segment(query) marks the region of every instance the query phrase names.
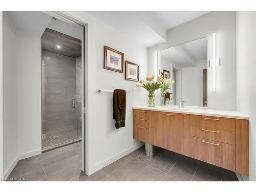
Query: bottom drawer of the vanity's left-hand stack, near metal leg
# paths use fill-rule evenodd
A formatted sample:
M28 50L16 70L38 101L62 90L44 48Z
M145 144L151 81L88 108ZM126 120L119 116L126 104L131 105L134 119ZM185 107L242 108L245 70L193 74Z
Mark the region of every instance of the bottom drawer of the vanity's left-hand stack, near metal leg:
M154 128L134 124L133 137L145 143L154 144Z

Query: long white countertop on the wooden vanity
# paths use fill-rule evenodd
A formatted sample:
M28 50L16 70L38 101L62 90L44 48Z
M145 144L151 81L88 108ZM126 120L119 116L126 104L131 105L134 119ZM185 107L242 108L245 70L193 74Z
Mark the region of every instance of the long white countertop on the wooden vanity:
M171 108L171 109L169 109ZM133 109L140 110L151 110L151 111L162 111L162 112L173 112L173 113L183 113L183 114L191 114L191 115L207 115L214 117L226 117L233 119L249 119L248 115L245 115L238 111L226 111L226 110L210 110L210 109L200 109L200 108L188 108L184 107L184 110L175 107L166 107L166 106L136 106Z

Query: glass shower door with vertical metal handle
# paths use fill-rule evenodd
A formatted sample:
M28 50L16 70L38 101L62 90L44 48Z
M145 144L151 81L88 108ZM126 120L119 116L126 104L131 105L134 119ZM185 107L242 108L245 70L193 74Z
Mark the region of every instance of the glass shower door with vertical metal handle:
M81 139L79 59L42 51L42 151Z

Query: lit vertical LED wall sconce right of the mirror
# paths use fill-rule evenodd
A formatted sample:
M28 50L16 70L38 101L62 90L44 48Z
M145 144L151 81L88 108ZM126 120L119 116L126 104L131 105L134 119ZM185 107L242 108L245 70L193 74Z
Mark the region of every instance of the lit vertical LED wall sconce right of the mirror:
M220 66L220 58L216 59L216 37L212 34L212 59L209 60L209 67L212 67L212 89L216 92L216 67Z

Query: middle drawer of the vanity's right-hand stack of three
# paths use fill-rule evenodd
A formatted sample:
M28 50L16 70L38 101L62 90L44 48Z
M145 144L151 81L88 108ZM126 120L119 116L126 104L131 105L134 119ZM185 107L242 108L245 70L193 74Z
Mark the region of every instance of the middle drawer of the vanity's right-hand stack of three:
M212 129L208 127L201 126L191 126L190 135L195 137L200 137L203 139L209 139L213 141L219 141L228 144L235 144L235 132Z

